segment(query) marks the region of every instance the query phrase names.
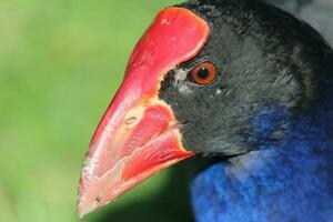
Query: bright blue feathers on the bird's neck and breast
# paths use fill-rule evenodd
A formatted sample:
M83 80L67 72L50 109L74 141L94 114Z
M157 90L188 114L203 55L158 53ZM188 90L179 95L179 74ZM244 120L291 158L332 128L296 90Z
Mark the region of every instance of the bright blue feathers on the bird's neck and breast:
M198 222L333 221L333 105L289 118L283 110L263 109L252 118L256 151L194 179ZM289 132L280 141L268 140L276 128Z

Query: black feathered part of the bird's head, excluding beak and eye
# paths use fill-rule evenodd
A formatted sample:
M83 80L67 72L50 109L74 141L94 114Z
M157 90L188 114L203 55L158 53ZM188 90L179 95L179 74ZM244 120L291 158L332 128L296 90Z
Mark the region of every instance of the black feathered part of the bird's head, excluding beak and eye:
M206 46L171 71L160 90L183 123L185 149L248 152L251 142L259 142L251 117L264 108L296 115L323 99L332 82L332 50L309 24L254 0L191 0L179 7L211 27ZM205 61L219 70L212 83L180 78ZM287 120L279 121L283 123L276 123L268 140L283 138Z

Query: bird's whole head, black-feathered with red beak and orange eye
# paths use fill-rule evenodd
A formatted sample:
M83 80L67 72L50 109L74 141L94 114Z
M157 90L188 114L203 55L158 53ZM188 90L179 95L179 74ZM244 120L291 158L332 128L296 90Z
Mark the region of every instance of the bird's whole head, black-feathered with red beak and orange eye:
M195 154L239 155L283 138L287 117L319 92L313 68L299 63L320 63L302 52L322 46L305 47L317 34L291 33L300 26L255 1L192 0L161 11L92 138L79 214Z

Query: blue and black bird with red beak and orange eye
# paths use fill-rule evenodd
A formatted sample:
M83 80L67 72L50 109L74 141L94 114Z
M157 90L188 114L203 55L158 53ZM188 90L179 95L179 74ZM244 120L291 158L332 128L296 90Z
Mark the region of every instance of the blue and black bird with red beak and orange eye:
M333 221L333 50L275 6L189 0L157 16L91 140L80 216L199 157L198 222Z

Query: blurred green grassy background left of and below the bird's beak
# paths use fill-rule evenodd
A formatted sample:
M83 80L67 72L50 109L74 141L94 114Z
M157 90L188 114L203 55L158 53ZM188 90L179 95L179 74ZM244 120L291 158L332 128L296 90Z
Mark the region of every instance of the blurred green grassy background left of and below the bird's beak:
M1 222L79 221L79 173L95 125L140 36L179 2L0 0ZM83 221L191 221L180 171Z

